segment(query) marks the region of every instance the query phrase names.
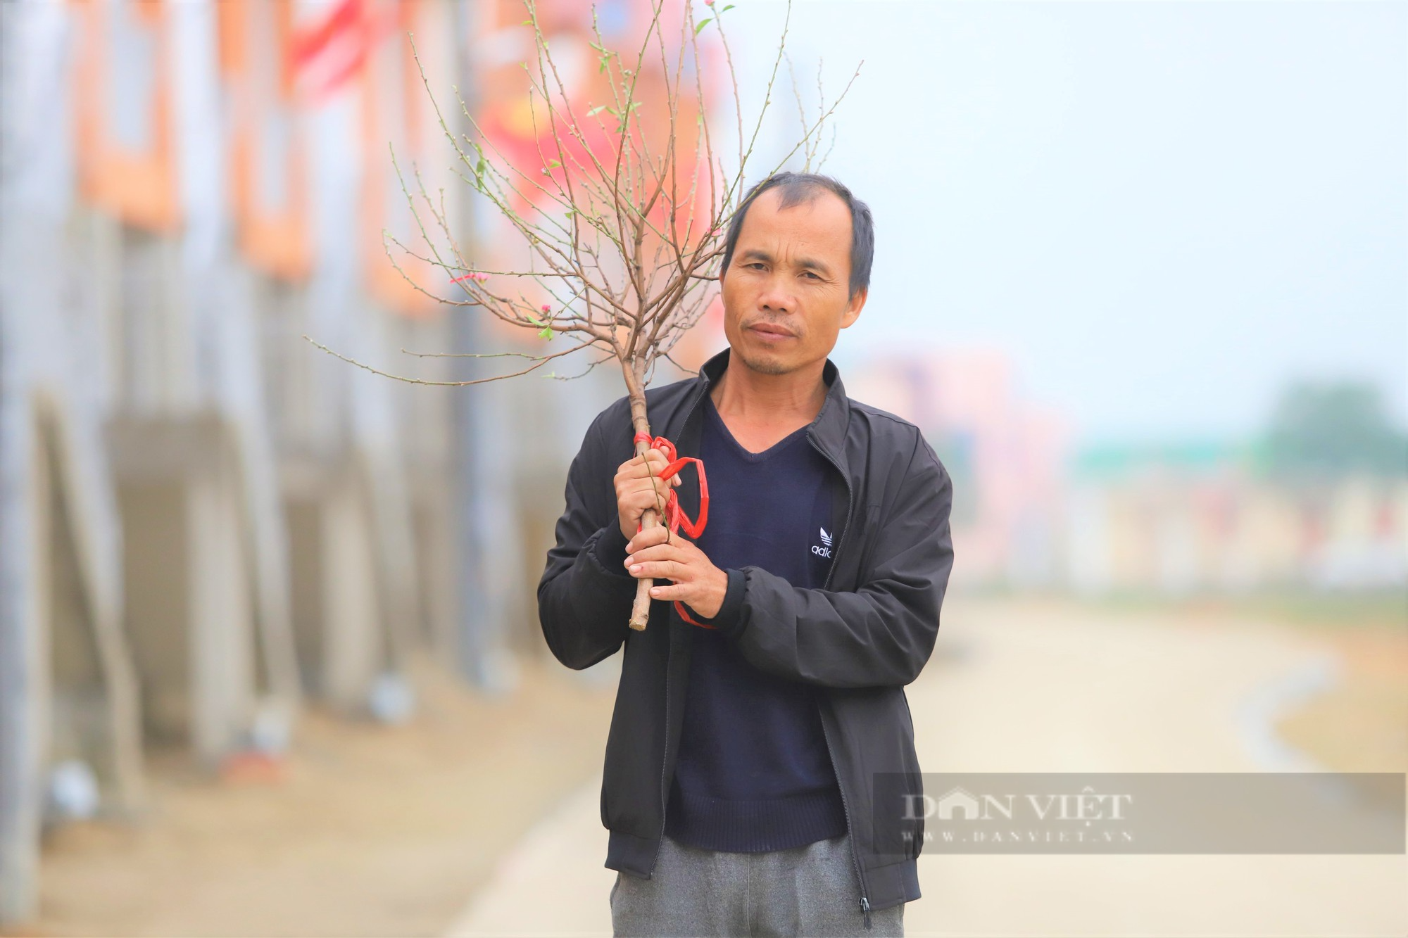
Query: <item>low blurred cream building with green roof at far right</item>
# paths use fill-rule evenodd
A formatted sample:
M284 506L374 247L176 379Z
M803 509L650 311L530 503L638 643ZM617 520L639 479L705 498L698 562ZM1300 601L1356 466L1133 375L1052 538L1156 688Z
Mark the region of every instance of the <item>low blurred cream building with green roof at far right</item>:
M1073 465L1067 538L1083 593L1402 587L1408 479L1294 486L1252 445L1091 446Z

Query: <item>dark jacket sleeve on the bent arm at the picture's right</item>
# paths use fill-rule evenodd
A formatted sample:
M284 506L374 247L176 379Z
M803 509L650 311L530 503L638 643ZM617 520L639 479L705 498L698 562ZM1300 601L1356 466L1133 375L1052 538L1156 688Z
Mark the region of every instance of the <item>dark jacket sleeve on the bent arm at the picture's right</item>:
M750 663L828 687L904 686L919 676L939 631L953 568L953 483L922 435L897 497L876 518L876 542L855 592L804 589L758 566L728 570L711 620ZM862 520L863 521L863 520ZM856 537L853 534L852 537Z

